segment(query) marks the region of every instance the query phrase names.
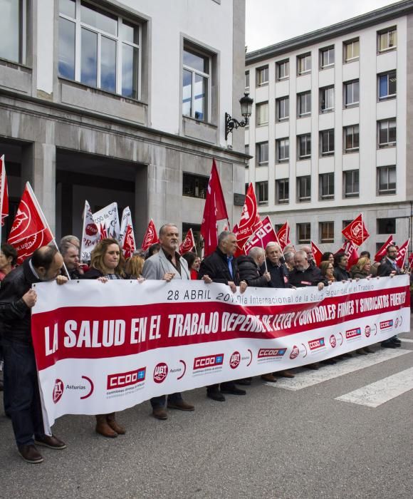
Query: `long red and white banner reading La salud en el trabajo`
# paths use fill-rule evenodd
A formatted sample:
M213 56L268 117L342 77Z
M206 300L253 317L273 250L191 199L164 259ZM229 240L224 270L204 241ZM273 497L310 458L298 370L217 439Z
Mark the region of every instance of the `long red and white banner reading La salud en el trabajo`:
M405 275L322 291L204 282L35 285L33 346L46 430L153 396L312 364L410 330Z

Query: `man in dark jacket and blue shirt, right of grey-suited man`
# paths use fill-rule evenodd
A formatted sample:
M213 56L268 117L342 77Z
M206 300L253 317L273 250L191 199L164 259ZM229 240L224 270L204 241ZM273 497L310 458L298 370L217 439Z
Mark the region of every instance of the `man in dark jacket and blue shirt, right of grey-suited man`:
M248 284L239 279L239 269L236 259L234 259L236 247L236 235L234 232L226 230L221 232L216 250L201 262L198 279L202 279L206 284L211 284L211 282L227 284L233 293L236 292L236 287L239 285L239 289L243 293ZM237 388L234 381L221 383L221 391L219 391L219 384L206 387L206 396L212 398L212 400L224 402L225 397L222 393L245 395L246 391Z

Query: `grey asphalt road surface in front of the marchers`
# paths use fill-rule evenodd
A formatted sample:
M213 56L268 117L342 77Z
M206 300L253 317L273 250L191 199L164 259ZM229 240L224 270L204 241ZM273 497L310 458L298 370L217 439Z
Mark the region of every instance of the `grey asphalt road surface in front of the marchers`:
M402 337L413 340L412 331ZM113 440L94 433L90 416L64 416L53 431L68 447L41 448L39 465L19 457L0 408L0 498L411 499L413 390L375 408L336 400L411 371L413 341L399 350L409 352L370 366L378 352L357 356L362 369L295 391L258 378L225 403L189 391L194 413L169 411L167 421L142 403L118 415L127 434ZM304 381L315 375L297 371Z

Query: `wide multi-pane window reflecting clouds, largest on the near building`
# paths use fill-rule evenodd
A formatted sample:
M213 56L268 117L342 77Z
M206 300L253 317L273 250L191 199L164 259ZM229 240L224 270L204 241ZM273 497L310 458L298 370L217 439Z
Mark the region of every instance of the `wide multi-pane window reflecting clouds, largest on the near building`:
M80 0L59 6L59 76L139 98L140 25Z

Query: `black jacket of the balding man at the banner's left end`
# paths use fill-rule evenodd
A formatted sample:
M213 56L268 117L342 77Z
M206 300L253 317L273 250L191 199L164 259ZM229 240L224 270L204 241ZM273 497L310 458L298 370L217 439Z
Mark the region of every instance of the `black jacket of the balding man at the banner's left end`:
M1 282L0 321L4 339L31 344L31 309L23 302L31 285L41 282L33 274L25 260L20 267L12 270Z

